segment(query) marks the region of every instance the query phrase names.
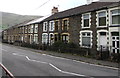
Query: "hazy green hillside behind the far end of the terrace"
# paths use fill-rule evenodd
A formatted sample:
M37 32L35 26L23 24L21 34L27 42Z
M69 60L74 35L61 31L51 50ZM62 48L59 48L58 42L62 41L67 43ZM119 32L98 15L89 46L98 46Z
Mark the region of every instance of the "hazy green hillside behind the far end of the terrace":
M13 13L0 12L0 29L6 29L26 20L32 20L42 16L18 15Z

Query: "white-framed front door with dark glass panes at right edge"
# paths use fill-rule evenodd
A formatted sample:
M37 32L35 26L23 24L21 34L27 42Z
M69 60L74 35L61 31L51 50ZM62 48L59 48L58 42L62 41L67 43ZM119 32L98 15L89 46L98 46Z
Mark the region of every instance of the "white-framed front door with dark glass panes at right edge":
M119 34L119 33L118 33ZM120 41L119 41L119 35L113 34L112 35L112 52L113 53L120 53Z

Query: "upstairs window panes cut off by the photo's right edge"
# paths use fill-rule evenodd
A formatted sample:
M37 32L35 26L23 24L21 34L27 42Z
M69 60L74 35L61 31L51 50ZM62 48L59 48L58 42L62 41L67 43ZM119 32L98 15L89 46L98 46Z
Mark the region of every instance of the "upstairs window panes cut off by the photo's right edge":
M111 24L119 25L120 24L120 9L115 9L111 11Z

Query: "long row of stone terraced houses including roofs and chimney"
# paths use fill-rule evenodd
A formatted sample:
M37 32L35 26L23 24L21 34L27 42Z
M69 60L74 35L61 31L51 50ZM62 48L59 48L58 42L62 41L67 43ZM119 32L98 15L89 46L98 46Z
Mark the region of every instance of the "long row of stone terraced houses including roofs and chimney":
M73 42L91 52L120 53L120 2L93 2L3 31L3 40L52 45ZM53 9L54 9L53 8ZM14 32L13 32L14 31Z

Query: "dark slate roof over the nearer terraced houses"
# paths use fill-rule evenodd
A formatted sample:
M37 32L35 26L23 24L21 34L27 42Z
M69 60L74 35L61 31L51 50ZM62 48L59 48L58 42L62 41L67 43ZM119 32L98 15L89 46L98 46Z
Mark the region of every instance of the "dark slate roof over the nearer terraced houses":
M69 16L78 15L78 14L82 14L82 13L90 12L90 11L95 11L95 10L107 8L108 6L110 6L112 4L116 4L116 3L119 3L119 2L93 2L89 5L82 5L82 6L71 8L71 9L68 9L68 10L65 10L62 12L58 12L58 13L48 17L44 21L69 17Z

